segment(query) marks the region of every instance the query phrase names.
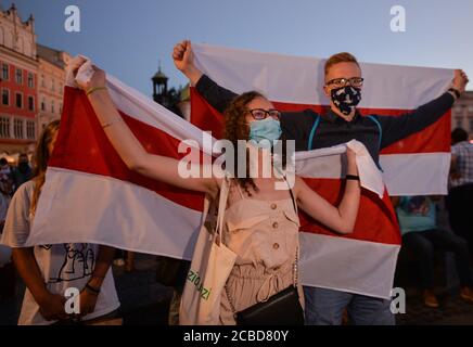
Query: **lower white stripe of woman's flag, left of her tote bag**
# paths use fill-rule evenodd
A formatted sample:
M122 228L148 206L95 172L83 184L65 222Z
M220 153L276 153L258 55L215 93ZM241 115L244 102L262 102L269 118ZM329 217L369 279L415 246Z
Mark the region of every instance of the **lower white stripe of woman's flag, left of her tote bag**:
M89 242L191 259L201 216L137 184L51 167L27 245Z

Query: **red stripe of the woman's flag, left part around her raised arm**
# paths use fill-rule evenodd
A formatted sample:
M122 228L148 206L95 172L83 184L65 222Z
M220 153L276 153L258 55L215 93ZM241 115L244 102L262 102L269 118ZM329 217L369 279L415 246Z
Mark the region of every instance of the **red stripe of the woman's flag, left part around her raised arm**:
M122 113L146 152L180 159L179 140ZM50 166L131 182L186 207L202 211L203 194L149 179L128 169L110 143L85 93L66 87L61 128Z

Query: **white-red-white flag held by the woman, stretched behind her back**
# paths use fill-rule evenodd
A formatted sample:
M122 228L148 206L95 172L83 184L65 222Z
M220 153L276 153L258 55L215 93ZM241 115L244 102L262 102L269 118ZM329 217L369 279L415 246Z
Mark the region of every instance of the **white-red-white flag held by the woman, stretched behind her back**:
M205 63L204 55L199 52L201 49L197 48L197 57L200 63ZM215 52L219 51L215 49ZM243 57L253 54L240 53ZM267 57L265 54L261 56ZM221 63L225 63L225 59ZM271 60L267 60L267 63L272 64ZM283 67L291 66L292 64L285 64ZM209 73L207 68L204 70ZM259 79L263 80L265 74L269 76L268 73L263 73L258 75ZM68 76L61 129L28 244L98 243L191 259L201 222L202 194L150 180L128 170L108 142L85 93L74 88L74 80L71 80L71 74ZM212 73L209 76L215 77ZM305 79L294 76L294 80L309 81L312 76L306 76ZM245 86L239 90L218 78L216 80L235 91L247 89ZM431 82L435 85L435 80L436 77ZM246 82L252 81L247 79ZM429 89L427 83L424 82L423 86ZM120 115L148 152L180 158L186 154L178 152L178 145L187 139L195 140L201 149L205 149L202 130L199 128L112 76L107 77L107 87ZM438 81L436 88L440 89ZM273 98L268 90L259 89L266 91L272 100L281 100ZM315 90L312 88L312 92ZM423 98L427 97L430 94L424 93ZM286 103L292 107L290 100ZM297 99L294 100L297 102ZM317 101L317 98L314 100ZM199 106L195 106L194 98L192 107L195 115ZM208 107L206 111L212 112ZM215 119L221 121L220 116L216 116L218 118ZM212 118L207 120L212 121ZM204 152L209 153L208 149ZM309 184L333 203L340 200L336 191L341 184L341 152L340 149L316 150L299 153L296 159L298 174L310 180ZM361 160L362 155L358 159ZM389 296L399 234L387 194L380 191L375 174L367 172L367 177L374 178L378 183L371 190L363 190L363 200L368 203L360 210L360 216L363 217L357 221L357 230L353 235L336 236L302 216L303 284L376 297ZM325 180L329 184L325 184ZM374 215L373 210L376 211ZM371 220L370 229L360 233L360 228L368 220ZM375 228L371 228L373 226Z

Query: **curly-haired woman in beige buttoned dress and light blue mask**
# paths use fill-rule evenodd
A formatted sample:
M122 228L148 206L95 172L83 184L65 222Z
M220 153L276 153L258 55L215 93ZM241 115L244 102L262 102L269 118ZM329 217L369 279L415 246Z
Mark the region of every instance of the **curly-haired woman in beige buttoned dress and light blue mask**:
M77 68L84 63L80 56L74 62ZM90 80L77 80L77 83L86 91L108 140L129 169L168 184L206 193L216 200L223 178L217 177L213 170L209 178L183 178L179 175L177 159L153 155L143 149L112 102L103 70L93 67ZM270 147L260 145L269 143L270 146L280 138L280 112L264 95L251 91L235 98L226 115L226 139L235 149L235 170L241 165L239 158L246 158L246 151L256 153L250 159L257 160L261 169L265 155L268 157L271 152ZM247 141L247 147L240 156L238 140ZM250 167L251 164L246 170ZM357 175L355 153L347 150L345 192L337 207L329 204L298 177L292 190L284 177L272 175L263 178L260 171L257 177L250 177L246 171L243 178L229 179L223 240L238 258L221 297L220 323L234 324L235 312L264 301L290 285L298 287L304 306L302 287L299 283L294 283L298 271L294 265L299 248L296 207L336 232L351 232L360 198ZM277 190L277 182L286 184L287 189Z

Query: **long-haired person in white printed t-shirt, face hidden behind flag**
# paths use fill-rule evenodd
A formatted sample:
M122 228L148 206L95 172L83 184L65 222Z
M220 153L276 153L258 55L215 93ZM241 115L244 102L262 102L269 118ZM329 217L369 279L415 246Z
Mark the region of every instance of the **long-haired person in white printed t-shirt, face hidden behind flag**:
M1 237L1 243L12 248L13 262L26 284L18 324L119 322L111 271L114 248L93 244L26 245L59 128L59 120L44 128L36 149L34 178L13 195ZM79 306L69 310L65 305L68 288L80 292Z

